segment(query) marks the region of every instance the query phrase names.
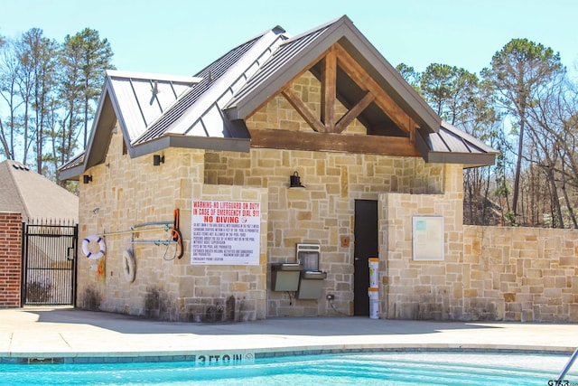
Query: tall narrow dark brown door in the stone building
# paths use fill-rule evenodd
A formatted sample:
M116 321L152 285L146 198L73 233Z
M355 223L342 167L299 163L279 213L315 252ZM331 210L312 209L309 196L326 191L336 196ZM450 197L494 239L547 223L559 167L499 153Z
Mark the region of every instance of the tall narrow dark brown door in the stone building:
M378 257L378 202L355 201L353 315L369 315L369 258Z

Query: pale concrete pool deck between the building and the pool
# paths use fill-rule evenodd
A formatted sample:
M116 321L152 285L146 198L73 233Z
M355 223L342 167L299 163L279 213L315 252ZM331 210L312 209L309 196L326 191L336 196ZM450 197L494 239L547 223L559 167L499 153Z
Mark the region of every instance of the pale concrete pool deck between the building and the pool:
M372 350L568 353L578 324L278 317L256 322L159 322L74 308L0 309L0 359L188 357Z

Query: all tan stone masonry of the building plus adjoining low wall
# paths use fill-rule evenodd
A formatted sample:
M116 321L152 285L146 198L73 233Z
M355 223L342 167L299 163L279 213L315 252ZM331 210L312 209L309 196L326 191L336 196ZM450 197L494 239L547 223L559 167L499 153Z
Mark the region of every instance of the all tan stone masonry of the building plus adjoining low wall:
M319 82L304 75L294 92L319 114ZM337 108L343 112L342 107ZM283 98L247 127L311 131ZM341 136L365 135L354 122ZM352 138L351 140L355 140ZM250 153L169 148L131 159L115 129L105 162L80 185L79 238L103 235L100 261L80 257L78 304L164 320L220 322L273 316L353 315L356 200L378 202L380 317L434 320L578 322L575 231L462 226L461 165L421 158L252 148ZM294 172L305 189L289 189ZM261 203L258 266L191 265L192 200ZM168 233L126 232L181 212L184 256L174 245L134 244ZM443 218L443 261L412 257L412 217ZM122 233L119 233L122 232ZM349 245L340 243L350 239ZM294 262L295 244L321 245L323 294L296 299L273 291L271 265ZM123 273L132 249L135 281Z

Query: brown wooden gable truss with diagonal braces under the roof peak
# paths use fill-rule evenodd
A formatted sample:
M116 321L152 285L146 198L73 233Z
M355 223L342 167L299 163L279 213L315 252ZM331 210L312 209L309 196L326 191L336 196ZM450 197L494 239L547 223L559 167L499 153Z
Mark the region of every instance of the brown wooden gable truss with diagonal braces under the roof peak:
M317 117L292 89L295 80L321 63L321 117ZM338 67L353 80L364 95L341 117L336 114ZM338 151L378 155L421 156L415 147L418 125L396 102L379 87L357 61L339 43L335 43L312 65L299 72L282 89L267 99L261 107L282 95L293 106L314 133L294 130L250 129L252 147ZM371 103L375 103L405 134L405 137L341 135ZM260 108L261 108L260 107ZM257 108L258 110L258 108ZM317 135L316 135L317 134Z

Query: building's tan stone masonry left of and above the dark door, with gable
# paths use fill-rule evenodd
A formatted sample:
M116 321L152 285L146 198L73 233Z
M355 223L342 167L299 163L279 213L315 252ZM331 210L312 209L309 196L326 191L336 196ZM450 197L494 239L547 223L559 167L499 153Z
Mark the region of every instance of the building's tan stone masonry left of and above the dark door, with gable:
M312 76L303 75L294 91L319 110L319 82ZM311 131L282 97L247 120L247 127ZM365 128L356 121L342 135L365 135ZM90 184L80 184L79 238L105 235L107 253L100 261L80 258L79 306L183 321L352 315L353 243L341 247L340 237L353 238L355 200L443 189L443 165L426 165L419 158L257 148L248 154L182 148L159 154L164 155L159 166L152 155L131 159L115 127L105 162L87 171ZM288 189L295 171L306 189ZM261 202L261 265L191 265L194 199ZM175 208L181 211L182 259L171 259L172 246L131 243L167 237L163 231L125 231L138 223L169 221ZM296 300L269 289L270 265L294 261L298 242L322 245L321 268L329 272L324 290L335 294L334 309L324 298ZM135 256L133 283L123 272L126 249Z

